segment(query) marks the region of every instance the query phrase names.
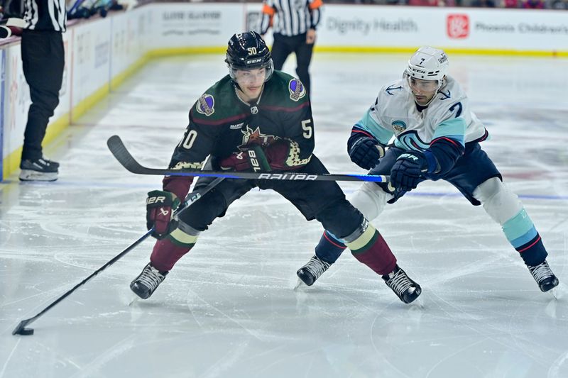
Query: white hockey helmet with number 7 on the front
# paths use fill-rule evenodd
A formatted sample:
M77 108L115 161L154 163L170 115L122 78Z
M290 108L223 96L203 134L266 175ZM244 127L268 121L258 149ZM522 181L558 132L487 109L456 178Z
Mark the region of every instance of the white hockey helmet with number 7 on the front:
M409 77L422 80L438 80L442 84L442 79L448 72L449 61L444 50L422 46L408 60L406 73Z

